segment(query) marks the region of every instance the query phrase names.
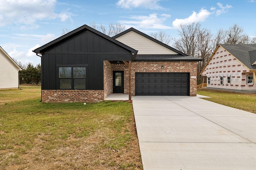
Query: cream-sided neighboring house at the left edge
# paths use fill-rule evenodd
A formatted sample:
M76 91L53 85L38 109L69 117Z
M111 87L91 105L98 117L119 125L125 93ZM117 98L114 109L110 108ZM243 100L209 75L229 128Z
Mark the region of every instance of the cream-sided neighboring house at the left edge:
M0 47L0 90L19 88L18 64Z

